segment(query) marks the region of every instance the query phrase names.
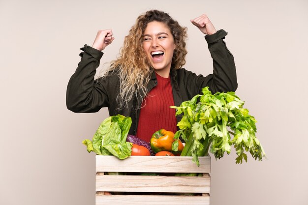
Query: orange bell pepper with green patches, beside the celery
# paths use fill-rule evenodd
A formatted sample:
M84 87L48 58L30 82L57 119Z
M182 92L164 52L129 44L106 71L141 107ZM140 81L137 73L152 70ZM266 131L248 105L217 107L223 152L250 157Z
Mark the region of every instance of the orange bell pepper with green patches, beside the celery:
M171 131L167 131L165 129L160 129L156 131L151 138L151 147L152 150L157 153L159 151L173 151L172 144L174 142L174 133ZM179 141L178 152L181 152L184 148L181 140Z

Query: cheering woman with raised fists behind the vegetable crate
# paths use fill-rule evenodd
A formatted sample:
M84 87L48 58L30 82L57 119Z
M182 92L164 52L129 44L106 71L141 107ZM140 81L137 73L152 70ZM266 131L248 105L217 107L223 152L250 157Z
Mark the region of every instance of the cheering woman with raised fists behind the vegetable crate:
M159 129L177 131L180 116L175 117L169 106L179 106L206 86L213 93L237 88L234 59L222 40L227 33L216 31L205 14L191 23L206 34L213 74L197 76L181 68L187 54L186 28L168 14L151 10L137 18L124 38L120 56L103 77L94 81L101 51L114 40L112 30L99 30L92 47L81 49L81 61L67 87L67 108L91 113L108 107L110 116L131 117L129 134L147 142Z

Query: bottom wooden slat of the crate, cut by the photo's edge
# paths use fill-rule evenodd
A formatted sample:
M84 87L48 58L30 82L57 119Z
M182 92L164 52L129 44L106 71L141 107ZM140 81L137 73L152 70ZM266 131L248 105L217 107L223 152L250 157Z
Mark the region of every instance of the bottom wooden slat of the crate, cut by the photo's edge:
M95 205L210 205L210 196L96 195Z

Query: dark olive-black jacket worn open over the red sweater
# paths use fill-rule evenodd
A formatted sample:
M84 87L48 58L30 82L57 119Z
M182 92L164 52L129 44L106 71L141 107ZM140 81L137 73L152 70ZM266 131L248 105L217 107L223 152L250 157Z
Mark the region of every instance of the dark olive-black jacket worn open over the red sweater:
M213 35L205 36L213 58L213 74L203 77L184 68L171 68L171 86L176 106L179 106L183 101L190 100L196 94L201 94L202 88L206 86L210 88L212 93L236 90L235 64L232 54L222 40L225 35L227 33L224 30L218 30ZM136 109L139 107L137 100L130 101L128 108L118 110L116 98L119 93L120 78L117 72L104 79L99 78L94 81L96 68L99 66L99 60L103 53L87 45L81 50L84 51L80 54L81 61L67 86L67 108L75 113L93 113L98 112L102 107L108 107L110 116L121 114L131 117L132 124L129 134L135 135L140 111L140 109ZM156 84L157 80L153 72L147 87L148 90L150 91ZM180 117L177 120L179 121Z

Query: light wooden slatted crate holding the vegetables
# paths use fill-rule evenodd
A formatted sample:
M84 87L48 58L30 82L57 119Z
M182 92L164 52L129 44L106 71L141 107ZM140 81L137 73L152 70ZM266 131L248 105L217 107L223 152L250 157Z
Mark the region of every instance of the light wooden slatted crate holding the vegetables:
M96 155L96 205L210 205L210 156L191 157ZM121 172L126 175L108 175ZM137 174L136 174L137 173ZM138 173L157 173L140 176ZM174 176L201 173L201 176ZM105 192L105 194L104 194ZM106 195L112 192L112 195ZM194 196L184 195L193 193Z

